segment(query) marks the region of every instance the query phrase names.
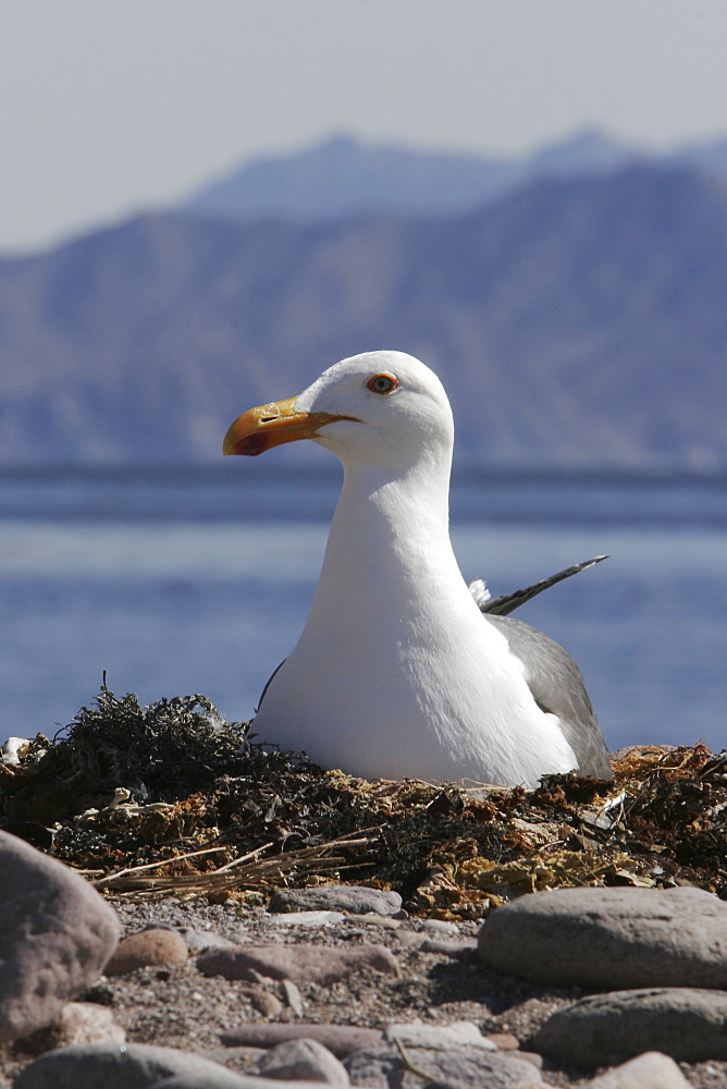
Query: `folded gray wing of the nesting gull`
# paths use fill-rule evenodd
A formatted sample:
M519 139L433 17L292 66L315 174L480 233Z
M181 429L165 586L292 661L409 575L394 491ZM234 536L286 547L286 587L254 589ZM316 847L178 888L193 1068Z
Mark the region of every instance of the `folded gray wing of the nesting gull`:
M557 714L563 733L582 775L613 779L608 749L601 733L583 677L569 653L537 627L512 616L484 614L506 637L525 665L525 677L538 706Z

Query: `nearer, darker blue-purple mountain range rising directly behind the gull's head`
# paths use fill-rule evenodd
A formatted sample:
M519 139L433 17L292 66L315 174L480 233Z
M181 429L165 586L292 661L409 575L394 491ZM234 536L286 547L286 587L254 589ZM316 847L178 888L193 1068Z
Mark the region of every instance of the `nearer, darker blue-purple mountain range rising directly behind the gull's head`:
M727 469L727 192L692 170L439 218L144 216L0 273L0 462L218 458L238 412L395 347L461 458Z

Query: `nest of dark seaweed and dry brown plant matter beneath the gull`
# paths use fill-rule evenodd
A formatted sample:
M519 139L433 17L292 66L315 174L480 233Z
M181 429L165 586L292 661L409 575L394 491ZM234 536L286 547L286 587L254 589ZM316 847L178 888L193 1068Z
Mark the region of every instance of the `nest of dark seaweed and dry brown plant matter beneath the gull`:
M52 742L0 764L0 828L121 896L260 902L349 881L443 919L567 885L727 898L727 755L632 747L614 772L529 792L370 783L257 744L202 696L143 707L103 687Z

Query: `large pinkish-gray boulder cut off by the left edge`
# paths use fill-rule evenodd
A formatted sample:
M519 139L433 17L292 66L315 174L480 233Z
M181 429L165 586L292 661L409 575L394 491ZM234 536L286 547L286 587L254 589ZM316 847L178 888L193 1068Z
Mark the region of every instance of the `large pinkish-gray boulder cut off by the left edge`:
M115 911L67 866L0 832L0 1043L56 1019L101 975Z

